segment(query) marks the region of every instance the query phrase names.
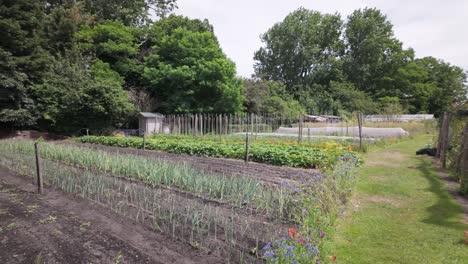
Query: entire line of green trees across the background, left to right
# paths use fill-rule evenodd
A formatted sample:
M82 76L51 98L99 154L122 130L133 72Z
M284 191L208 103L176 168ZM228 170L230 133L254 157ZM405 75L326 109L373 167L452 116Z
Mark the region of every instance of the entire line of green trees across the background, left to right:
M467 101L464 70L416 58L375 8L345 19L291 12L261 36L252 79L236 76L208 20L175 8L176 0L2 1L0 125L106 132L137 111L438 114Z

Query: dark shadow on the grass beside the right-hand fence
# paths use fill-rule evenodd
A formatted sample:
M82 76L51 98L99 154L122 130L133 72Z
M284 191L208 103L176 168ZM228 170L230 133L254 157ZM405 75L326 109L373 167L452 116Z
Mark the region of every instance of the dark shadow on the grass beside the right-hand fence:
M427 190L437 195L437 202L426 209L429 216L422 222L460 231L466 230L466 225L461 222L462 207L448 192L445 184L441 182L432 162L426 158L418 158L418 160L417 169L422 172L423 177L430 184Z

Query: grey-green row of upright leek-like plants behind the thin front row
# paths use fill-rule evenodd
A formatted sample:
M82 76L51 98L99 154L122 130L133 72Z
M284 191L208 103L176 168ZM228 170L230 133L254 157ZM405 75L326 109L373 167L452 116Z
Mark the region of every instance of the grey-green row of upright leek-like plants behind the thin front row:
M32 155L34 148L30 141L1 142L0 151ZM236 206L254 207L270 215L273 213L283 215L289 203L281 191L281 186L265 186L261 181L251 177L207 174L184 163L175 164L139 156L49 143L41 143L40 155L45 159L65 164L137 179L152 186L176 187Z

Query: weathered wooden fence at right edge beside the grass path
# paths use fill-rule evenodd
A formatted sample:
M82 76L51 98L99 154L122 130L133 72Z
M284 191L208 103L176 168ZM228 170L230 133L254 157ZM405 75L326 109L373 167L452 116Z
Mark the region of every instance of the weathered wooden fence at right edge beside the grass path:
M439 122L436 158L460 182L468 194L468 110L445 112Z

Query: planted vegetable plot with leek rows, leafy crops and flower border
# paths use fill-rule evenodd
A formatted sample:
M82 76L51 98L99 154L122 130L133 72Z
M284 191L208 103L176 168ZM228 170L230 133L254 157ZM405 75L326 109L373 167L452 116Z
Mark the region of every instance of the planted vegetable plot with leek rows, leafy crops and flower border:
M141 138L84 137L80 141L135 148L142 144ZM214 157L237 157L242 145L209 139L190 143L188 138L149 139L146 144L150 149ZM286 258L311 263L332 254L328 237L359 164L357 154L332 145L278 143L267 148L260 142L252 144L256 155L252 157L259 161L320 168L306 173L296 169L301 171L297 177L274 181L208 172L187 162L104 146L40 143L40 155L46 185L91 199L193 248L234 263L256 259L283 263ZM277 162L280 155L285 162ZM300 159L300 155L311 157ZM34 176L33 142L1 141L0 165Z

